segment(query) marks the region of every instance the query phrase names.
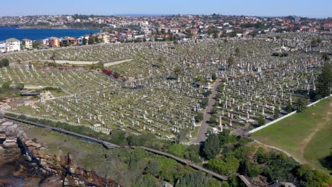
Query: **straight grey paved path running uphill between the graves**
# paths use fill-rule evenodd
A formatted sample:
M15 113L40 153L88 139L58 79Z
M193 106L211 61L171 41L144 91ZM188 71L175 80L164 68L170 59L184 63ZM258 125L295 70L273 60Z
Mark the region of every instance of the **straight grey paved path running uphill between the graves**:
M212 108L214 106L214 103L216 103L216 89L218 88L218 86L220 85L221 83L221 79L216 79L216 83L214 84L214 88L212 89L212 93L210 95L210 98L209 98L209 103L208 105L206 106L206 109L205 109L205 112L204 112L204 118L201 122L201 127L199 128L199 132L198 132L198 135L197 135L197 138L196 140L192 141L192 143L194 144L199 144L201 142L204 142L206 140L206 132L208 130L208 127L209 127L209 120L211 118L211 111L212 111Z

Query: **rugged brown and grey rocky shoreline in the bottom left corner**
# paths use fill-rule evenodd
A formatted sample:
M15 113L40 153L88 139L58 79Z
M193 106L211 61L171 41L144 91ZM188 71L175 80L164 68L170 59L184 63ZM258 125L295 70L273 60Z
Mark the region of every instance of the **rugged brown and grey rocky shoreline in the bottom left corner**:
M25 125L0 120L0 186L120 186L72 164L72 155L45 154Z

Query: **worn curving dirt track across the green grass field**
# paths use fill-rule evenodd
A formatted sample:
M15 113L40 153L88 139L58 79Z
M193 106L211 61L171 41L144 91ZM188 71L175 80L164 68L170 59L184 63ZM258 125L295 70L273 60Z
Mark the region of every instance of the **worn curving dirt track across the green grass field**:
M328 122L331 120L331 118L329 118L328 115L330 115L330 111L332 110L332 101L329 103L329 109L328 111L326 111L326 115L325 115L325 121L318 123L316 128L314 129L313 132L310 133L310 135L308 135L303 142L301 143L301 147L299 148L299 151L301 152L301 156L303 158L303 162L304 164L307 164L308 162L306 161L306 159L304 159L304 150L306 149L306 146L309 144L309 142L312 140L312 138L314 137L314 135L316 135L317 132L319 132L319 130L321 130L321 128L323 128L326 124L328 124Z

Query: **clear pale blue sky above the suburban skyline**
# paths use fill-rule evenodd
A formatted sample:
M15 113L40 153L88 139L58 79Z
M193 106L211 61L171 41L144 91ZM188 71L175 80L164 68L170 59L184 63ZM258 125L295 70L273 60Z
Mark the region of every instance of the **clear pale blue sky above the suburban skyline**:
M332 17L332 0L1 0L0 16L211 14Z

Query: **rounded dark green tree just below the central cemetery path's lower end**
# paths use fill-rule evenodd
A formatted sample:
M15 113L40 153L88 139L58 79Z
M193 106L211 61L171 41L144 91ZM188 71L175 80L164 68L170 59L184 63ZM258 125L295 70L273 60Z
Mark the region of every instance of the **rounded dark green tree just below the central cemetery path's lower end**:
M220 144L218 135L209 135L207 137L204 147L203 147L203 155L206 159L214 159L216 155L220 152Z

